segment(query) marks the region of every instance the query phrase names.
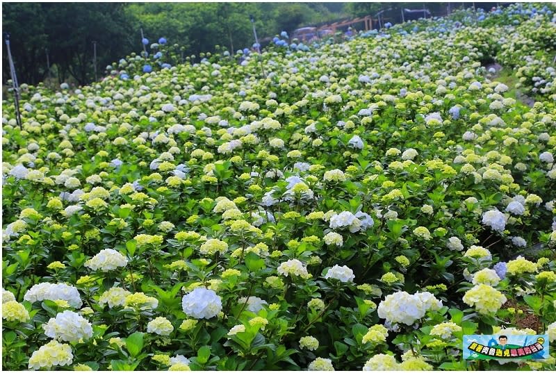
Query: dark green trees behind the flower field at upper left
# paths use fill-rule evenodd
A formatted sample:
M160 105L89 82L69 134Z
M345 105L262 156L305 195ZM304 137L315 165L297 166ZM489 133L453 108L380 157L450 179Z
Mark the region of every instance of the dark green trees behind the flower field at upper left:
M83 85L95 78L92 42L100 74L140 47L140 28L147 38L164 35L179 43L191 56L213 51L216 44L250 47L250 15L259 38L265 38L342 14L341 3L3 3L2 31L11 34L20 83L56 77L59 83L71 78ZM5 66L7 61L4 53ZM9 76L3 69L3 81Z

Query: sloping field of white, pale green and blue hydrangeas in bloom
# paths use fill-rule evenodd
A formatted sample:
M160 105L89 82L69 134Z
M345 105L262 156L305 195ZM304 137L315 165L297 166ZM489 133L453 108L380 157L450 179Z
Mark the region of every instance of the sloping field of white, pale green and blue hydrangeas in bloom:
M555 10L23 85L3 369L555 370Z

